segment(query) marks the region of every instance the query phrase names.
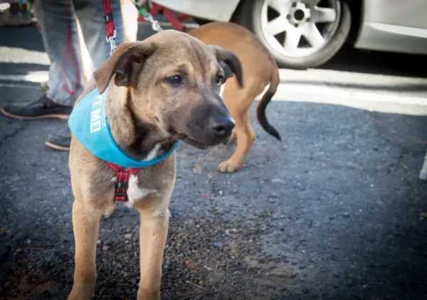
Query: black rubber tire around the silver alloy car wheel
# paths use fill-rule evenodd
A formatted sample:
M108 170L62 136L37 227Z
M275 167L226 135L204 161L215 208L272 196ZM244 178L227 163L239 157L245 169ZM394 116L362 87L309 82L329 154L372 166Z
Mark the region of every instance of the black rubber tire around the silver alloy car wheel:
M253 31L263 45L268 48L281 68L307 69L319 67L330 60L338 50L342 48L342 45L344 45L347 37L349 36L352 23L349 6L345 1L335 0L337 8L339 8L337 9L339 14L336 14L336 17L338 16L339 19L335 21L334 32L329 37L328 41L325 42L325 45L322 45L321 48L315 50L314 53L310 53L309 55L300 55L299 57L295 55L286 55L283 51L278 49L278 43L273 41L271 38L270 40L266 38L266 34L263 31L261 11L263 5L265 5L265 1L268 0L241 1L233 14L231 21ZM301 3L303 0L295 0L295 3L297 2ZM281 47L283 48L283 46ZM283 50L285 49L283 48Z

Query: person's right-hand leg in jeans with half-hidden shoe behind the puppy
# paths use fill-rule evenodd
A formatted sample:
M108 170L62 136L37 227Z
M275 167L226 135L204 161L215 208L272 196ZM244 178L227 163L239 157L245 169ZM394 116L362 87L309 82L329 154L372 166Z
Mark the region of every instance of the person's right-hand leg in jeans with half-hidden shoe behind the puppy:
M75 11L82 29L85 45L95 68L105 63L110 56L110 44L105 39L105 21L102 1L75 0ZM125 41L122 23L120 0L111 0L112 16L116 29L116 44ZM88 66L89 67L89 66ZM59 129L58 132L49 134L46 145L53 149L68 150L70 147L70 129Z

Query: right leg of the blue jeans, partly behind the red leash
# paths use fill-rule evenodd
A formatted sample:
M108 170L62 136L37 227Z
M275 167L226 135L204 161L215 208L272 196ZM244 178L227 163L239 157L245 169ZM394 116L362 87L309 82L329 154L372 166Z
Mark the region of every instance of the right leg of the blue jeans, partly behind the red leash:
M76 2L82 0L75 0ZM111 11L116 30L115 42L117 45L125 41L123 31L122 8L120 0L111 0ZM107 60L110 56L110 44L107 43L105 36L104 10L102 1L91 0L83 9L76 10L78 21L85 39L86 48L90 58L92 58L95 69ZM89 66L88 66L89 67ZM88 80L90 80L88 78Z

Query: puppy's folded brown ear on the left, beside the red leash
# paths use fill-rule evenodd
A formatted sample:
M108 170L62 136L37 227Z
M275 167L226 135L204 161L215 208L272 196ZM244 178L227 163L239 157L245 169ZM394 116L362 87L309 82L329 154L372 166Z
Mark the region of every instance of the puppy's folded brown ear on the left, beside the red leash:
M112 75L115 75L115 85L136 87L144 62L155 49L154 43L121 43L112 51L110 58L93 73L93 79L100 94L107 88Z

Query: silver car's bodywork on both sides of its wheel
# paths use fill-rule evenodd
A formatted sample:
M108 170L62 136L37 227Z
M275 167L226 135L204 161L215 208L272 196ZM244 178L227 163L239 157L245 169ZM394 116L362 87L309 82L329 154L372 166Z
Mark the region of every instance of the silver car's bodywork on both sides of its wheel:
M228 22L244 0L156 0L181 14ZM349 0L353 1L353 0ZM355 48L427 54L427 0L363 0Z

